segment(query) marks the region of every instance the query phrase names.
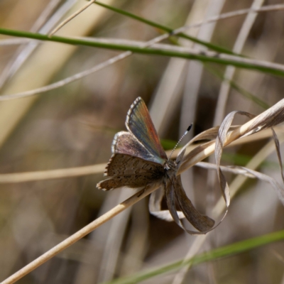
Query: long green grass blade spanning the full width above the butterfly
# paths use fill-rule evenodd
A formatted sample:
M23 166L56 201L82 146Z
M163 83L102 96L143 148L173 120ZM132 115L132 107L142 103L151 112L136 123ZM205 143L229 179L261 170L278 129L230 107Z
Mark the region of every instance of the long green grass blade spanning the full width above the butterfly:
M176 58L185 58L191 60L200 60L202 62L214 62L219 63L222 65L233 65L236 67L241 67L249 70L257 70L260 72L269 73L272 75L278 75L283 77L284 76L284 66L278 65L278 67L267 67L265 65L258 65L257 62L244 62L239 59L239 61L235 61L234 59L226 59L220 58L219 54L216 56L206 56L202 54L190 54L190 53L182 53L180 51L174 50L159 50L155 48L141 48L136 46L129 46L129 45L121 45L121 44L111 44L111 43L94 43L89 40L81 40L75 38L63 38L61 36L53 35L52 37L48 37L48 35L42 35L40 33L30 33L26 31L14 31L8 30L5 28L0 28L0 34L2 35L12 35L18 36L21 38L32 38L35 40L46 40L46 41L53 41L56 43L67 43L71 45L84 45L84 46L92 46L94 48L108 48L111 50L124 50L124 51L131 51L133 53L145 54L145 55L161 55L161 56L169 56L169 57L176 57ZM227 55L233 56L233 55Z

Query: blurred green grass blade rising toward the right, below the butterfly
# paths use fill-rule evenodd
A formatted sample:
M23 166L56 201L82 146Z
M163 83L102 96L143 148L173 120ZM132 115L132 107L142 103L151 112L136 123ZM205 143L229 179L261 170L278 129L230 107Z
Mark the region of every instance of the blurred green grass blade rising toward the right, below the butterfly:
M256 249L260 246L265 246L266 244L271 244L275 241L281 241L284 239L284 230L276 231L275 233L266 234L264 236L258 236L256 238L248 239L245 241L239 241L234 244L230 244L228 246L222 246L219 249L213 249L212 251L208 251L207 253L201 253L198 256L194 256L193 258L187 260L180 260L170 263L166 266L161 266L160 268L155 268L151 271L145 271L142 273L136 273L131 276L126 276L124 278L119 278L117 280L112 280L110 282L104 284L132 284L139 283L143 280L148 280L157 275L161 275L163 273L168 273L170 271L177 270L182 268L183 266L187 266L189 264L197 265L200 263L204 263L207 261L214 261L219 258L225 256L234 256L237 253L243 253L245 251L250 251L252 249Z

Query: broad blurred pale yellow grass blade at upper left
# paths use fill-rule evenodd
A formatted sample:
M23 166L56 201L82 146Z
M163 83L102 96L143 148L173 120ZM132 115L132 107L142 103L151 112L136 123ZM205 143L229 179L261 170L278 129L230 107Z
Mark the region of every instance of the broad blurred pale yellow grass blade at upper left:
M80 0L77 3L80 5L81 2ZM72 21L70 25L62 29L62 35L72 35L72 33L84 35L89 33L102 16L102 10L97 10L96 16L94 16L93 11L88 10L84 18L79 19L78 17L80 23L77 23L77 19ZM62 67L62 64L70 58L75 50L76 47L74 46L58 45L57 53L54 53L53 43L43 43L29 59L27 64L13 76L9 84L7 84L5 93L13 94L26 89L36 89L47 84L50 78L58 72L58 69ZM46 68L46 58L49 58L48 68ZM45 70L45 72L42 72L43 70ZM33 78L33 80L31 80L31 78ZM6 138L13 131L18 122L21 121L33 102L35 102L35 98L0 104L0 146L6 141Z

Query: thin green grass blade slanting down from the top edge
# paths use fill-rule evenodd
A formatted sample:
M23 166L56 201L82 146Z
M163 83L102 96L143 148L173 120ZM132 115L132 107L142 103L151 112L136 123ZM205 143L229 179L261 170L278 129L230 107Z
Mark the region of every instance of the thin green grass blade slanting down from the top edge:
M109 6L107 4L103 4L103 3L99 2L99 1L94 2L94 4L102 6L102 7L106 8L106 9L109 9L109 10L114 11L116 13L120 13L121 15L127 16L129 18L133 18L136 21L140 21L141 23L146 23L148 26L153 26L154 28L158 28L161 31L165 31L167 33L173 33L173 31L174 31L173 28L169 28L167 26L160 25L159 23L155 23L153 21L146 20L146 18L142 18L142 17L136 16L133 13L129 13L129 12L126 12L124 10L115 8L113 6ZM200 45L204 45L204 46L206 46L207 48L209 48L211 50L217 51L218 53L226 53L226 54L241 56L241 55L238 55L236 53L232 53L231 50L227 50L226 48L222 48L222 47L220 47L218 45L213 45L212 43L207 43L206 41L199 40L197 38L193 38L192 36L186 35L185 33L177 33L175 36L179 36L180 38L185 38L187 40L191 40L194 43L199 43Z

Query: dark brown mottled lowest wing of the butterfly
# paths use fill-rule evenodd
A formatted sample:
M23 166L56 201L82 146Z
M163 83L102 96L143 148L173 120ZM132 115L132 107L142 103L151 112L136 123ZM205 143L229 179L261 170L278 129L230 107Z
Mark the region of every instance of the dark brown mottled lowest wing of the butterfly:
M97 187L101 190L113 190L122 186L136 188L161 180L164 168L158 163L116 153L109 160L105 175L111 178L98 183Z

